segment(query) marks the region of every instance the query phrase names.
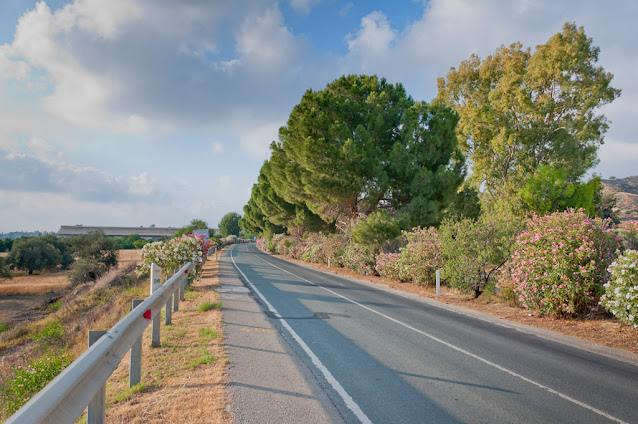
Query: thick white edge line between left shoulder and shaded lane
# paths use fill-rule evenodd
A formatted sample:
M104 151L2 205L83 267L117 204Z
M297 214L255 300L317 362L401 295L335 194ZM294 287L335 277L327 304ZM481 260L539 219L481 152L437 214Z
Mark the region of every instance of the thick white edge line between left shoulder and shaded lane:
M281 315L275 309L275 307L270 304L270 302L266 299L266 297L263 294L261 294L259 289L257 289L257 287L255 287L255 285L248 279L246 274L244 274L244 272L241 269L239 269L239 266L237 266L237 263L235 263L235 258L233 257L233 252L235 251L235 247L233 247L233 249L230 251L230 259L233 261L233 265L235 266L237 271L239 271L239 273L242 275L242 277L244 277L244 280L246 280L246 282L250 285L250 287L255 291L255 293L257 293L257 295L261 298L261 300L266 304L266 306L268 307L268 310L270 312L272 312L273 314L275 314L275 316L277 317L277 319L279 320L281 325L286 330L288 330L290 335L295 339L295 341L297 341L297 343L299 344L299 346L301 346L303 351L306 352L306 354L310 357L310 360L312 361L313 365L315 367L317 367L317 369L319 371L321 371L321 373L326 378L328 383L330 383L332 388L339 394L339 396L341 396L341 399L343 399L343 401L346 404L346 406L348 407L348 409L350 409L356 415L356 417L359 419L359 421L361 421L361 423L363 423L363 424L372 424L372 421L370 421L370 419L361 410L361 408L359 407L359 405L357 405L357 403L354 401L354 399L352 399L352 397L348 394L348 392L346 392L346 390L337 381L337 379L334 378L332 373L319 360L317 355L315 355L314 352L312 350L310 350L310 348L308 347L306 342L304 342L303 339L301 337L299 337L297 332L295 330L293 330L292 327L290 327L290 325L288 325L286 320L281 317ZM247 252L247 253L250 253L250 252Z

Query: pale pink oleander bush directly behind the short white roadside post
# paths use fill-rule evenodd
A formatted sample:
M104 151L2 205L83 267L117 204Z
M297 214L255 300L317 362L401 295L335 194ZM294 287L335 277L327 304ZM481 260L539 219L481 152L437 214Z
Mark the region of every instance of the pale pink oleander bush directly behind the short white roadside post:
M441 242L436 228L416 227L411 232L403 231L408 243L399 253L377 255L375 269L385 278L432 284L434 274L441 267Z

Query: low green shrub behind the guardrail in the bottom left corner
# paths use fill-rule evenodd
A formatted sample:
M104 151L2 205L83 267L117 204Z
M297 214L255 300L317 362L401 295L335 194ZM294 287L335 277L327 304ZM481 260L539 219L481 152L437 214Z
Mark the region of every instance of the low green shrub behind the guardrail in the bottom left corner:
M3 415L8 417L20 409L70 363L71 356L67 352L54 350L32 359L24 367L14 367L0 387Z

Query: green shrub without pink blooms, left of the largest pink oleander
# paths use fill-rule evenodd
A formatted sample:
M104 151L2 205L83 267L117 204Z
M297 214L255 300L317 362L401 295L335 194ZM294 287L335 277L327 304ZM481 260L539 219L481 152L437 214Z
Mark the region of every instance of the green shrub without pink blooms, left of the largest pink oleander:
M493 209L477 220L444 221L439 229L442 278L477 298L495 283L498 271L509 259L520 218L505 209Z

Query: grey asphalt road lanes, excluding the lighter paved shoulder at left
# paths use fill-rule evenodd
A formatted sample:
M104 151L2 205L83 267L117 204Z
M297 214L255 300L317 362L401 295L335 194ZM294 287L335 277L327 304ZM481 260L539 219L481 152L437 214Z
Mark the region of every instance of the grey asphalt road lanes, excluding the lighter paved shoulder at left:
M317 421L638 423L636 357L612 359L255 245L235 246L223 261L234 264L294 357L307 398L327 411Z

